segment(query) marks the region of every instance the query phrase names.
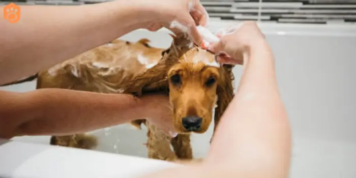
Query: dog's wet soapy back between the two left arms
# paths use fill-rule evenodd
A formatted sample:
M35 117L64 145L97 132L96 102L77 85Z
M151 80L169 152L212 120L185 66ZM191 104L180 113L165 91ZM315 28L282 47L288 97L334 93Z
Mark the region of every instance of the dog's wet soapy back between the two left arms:
M149 40L116 39L41 71L37 88L65 88L98 93L122 93L135 76L155 66L163 49Z

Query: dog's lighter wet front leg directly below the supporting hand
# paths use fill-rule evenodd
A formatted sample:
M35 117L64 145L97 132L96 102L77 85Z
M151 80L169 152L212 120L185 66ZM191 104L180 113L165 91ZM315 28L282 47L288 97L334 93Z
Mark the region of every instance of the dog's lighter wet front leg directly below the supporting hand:
M171 138L152 124L149 124L148 128L147 149L149 158L166 161L177 160L175 153L170 149Z

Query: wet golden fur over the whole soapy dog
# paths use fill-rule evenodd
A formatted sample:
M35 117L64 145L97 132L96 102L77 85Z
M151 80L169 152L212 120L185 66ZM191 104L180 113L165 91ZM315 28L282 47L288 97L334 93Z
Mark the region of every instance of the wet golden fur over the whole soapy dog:
M215 128L219 118L233 98L233 66L220 68L192 62L194 56L214 60L210 52L192 46L186 38L173 37L172 45L164 50L149 45L142 39L136 43L114 40L84 52L62 64L38 74L37 88L68 88L98 93L130 93L137 97L152 92L166 92L172 104L172 121L177 131L175 138L163 134L144 118L131 124L148 127L147 149L149 158L167 161L193 158L190 133L182 126L182 117L197 115L203 118L197 133L203 133L212 122L215 108ZM141 64L138 55L150 60ZM157 63L157 64L156 64ZM155 64L154 66L150 64ZM149 69L147 69L149 68ZM181 82L170 80L179 75ZM207 85L207 80L215 82ZM85 134L52 136L51 144L92 149L96 138ZM170 149L172 145L174 152Z

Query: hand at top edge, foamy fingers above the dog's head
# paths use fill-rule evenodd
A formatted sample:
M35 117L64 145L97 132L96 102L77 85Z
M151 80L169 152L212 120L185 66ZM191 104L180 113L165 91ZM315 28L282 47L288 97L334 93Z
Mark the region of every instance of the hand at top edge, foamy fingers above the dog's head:
M151 12L152 21L147 25L149 31L157 31L162 27L173 33L185 33L196 44L202 41L197 25L205 26L209 15L199 0L138 0Z

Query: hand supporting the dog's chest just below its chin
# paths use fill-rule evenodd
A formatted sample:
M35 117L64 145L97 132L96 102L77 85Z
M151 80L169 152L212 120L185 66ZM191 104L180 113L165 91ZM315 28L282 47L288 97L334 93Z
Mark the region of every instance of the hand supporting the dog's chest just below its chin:
M173 110L169 103L169 97L165 95L142 96L145 117L151 124L157 126L166 135L175 137L177 132L173 125Z

